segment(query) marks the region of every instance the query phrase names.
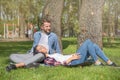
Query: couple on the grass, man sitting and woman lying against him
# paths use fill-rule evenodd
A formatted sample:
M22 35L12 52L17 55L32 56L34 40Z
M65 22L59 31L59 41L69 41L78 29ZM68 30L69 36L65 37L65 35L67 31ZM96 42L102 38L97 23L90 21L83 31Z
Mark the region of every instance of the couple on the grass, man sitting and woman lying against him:
M57 35L51 32L51 23L48 19L43 19L41 31L34 34L34 43L29 54L11 54L10 60L14 63L6 66L7 71L19 67L38 66L38 62L44 61L47 65L65 65L75 66L83 64L88 57L93 58L95 65L103 65L98 60L100 57L109 66L116 66L109 58L105 56L98 45L93 43L90 39L85 40L80 48L74 54L62 55L59 47Z

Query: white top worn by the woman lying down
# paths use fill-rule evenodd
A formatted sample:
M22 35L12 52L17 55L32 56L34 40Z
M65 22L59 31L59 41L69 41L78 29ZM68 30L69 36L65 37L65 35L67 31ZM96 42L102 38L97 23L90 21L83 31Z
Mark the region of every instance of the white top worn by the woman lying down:
M54 58L56 61L61 62L62 64L70 58L72 55L62 55L59 53L49 54L48 57Z

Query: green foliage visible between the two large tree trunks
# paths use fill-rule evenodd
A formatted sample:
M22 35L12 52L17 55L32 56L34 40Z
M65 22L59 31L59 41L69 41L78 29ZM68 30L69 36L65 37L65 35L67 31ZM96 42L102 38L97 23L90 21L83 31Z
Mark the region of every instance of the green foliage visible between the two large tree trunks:
M62 15L62 36L75 37L78 30L79 0L65 0Z

